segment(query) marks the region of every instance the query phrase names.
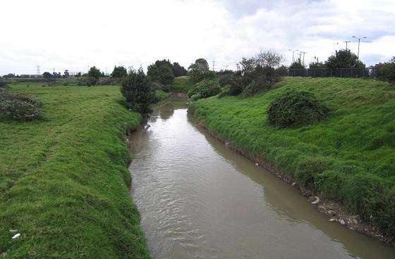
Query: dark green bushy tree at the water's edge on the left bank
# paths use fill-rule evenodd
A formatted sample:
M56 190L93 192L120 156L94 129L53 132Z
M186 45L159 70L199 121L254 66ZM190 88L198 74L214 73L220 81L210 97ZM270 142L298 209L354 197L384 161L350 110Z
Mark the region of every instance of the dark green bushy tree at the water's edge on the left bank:
M130 70L129 75L122 81L121 93L128 103L128 107L141 113L147 118L152 112L150 104L153 94L150 79L140 67L138 71Z

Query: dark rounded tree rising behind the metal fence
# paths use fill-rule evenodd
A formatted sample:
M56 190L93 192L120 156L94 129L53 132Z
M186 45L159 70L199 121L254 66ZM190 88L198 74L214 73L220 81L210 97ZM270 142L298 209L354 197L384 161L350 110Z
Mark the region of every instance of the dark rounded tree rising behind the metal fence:
M329 56L328 60L325 61L326 68L365 68L365 64L358 61L358 57L355 53L352 53L349 49L341 49L335 51L332 56Z

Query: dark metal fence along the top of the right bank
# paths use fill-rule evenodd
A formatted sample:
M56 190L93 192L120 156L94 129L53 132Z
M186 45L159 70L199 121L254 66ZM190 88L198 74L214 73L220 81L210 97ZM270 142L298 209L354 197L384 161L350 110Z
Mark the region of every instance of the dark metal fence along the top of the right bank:
M370 77L369 68L295 68L288 69L290 77Z

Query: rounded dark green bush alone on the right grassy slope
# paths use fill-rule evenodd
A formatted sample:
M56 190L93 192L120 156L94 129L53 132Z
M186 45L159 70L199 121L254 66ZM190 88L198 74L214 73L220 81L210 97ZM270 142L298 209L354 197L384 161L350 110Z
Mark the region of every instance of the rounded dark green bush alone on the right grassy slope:
M269 124L293 127L317 122L327 115L328 109L308 91L286 91L267 109Z

